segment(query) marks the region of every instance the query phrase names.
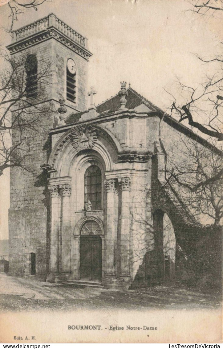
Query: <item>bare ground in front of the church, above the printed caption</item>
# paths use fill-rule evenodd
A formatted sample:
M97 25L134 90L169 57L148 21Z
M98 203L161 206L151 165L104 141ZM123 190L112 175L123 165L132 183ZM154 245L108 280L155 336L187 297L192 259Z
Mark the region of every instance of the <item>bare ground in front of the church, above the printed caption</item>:
M41 282L35 278L0 273L1 311L72 311L75 309L217 309L219 290L183 287L178 284L111 291Z

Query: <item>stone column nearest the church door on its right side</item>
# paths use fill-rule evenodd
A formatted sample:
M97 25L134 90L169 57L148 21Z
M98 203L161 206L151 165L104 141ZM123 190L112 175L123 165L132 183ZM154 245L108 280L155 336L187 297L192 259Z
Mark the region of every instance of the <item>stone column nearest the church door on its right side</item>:
M107 214L106 214L106 273L105 276L116 277L116 245L117 232L115 230L114 207L115 207L115 179L105 180L107 191Z

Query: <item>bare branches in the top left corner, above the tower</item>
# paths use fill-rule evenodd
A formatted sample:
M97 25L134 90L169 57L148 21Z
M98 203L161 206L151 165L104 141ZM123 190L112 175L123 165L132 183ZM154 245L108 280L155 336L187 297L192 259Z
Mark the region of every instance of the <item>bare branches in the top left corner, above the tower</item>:
M33 8L35 11L37 11L38 7L46 1L50 0L9 0L9 25L6 31L11 32L13 30L15 21L18 21L18 16L22 14L26 9Z

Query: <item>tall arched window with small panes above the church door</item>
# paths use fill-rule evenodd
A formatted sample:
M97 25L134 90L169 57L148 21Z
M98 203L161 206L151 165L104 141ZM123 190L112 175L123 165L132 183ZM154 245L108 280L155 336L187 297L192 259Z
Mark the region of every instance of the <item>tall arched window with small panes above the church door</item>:
M90 166L84 175L84 205L91 201L92 210L101 209L101 170L98 166Z

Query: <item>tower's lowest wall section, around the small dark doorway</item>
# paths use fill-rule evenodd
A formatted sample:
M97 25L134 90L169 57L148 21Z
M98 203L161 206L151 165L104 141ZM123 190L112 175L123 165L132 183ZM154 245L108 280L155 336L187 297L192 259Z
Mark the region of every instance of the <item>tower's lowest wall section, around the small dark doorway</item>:
M22 210L10 210L9 222L10 275L30 275L30 253L35 253L36 274L44 277L49 267L47 209L31 205Z

